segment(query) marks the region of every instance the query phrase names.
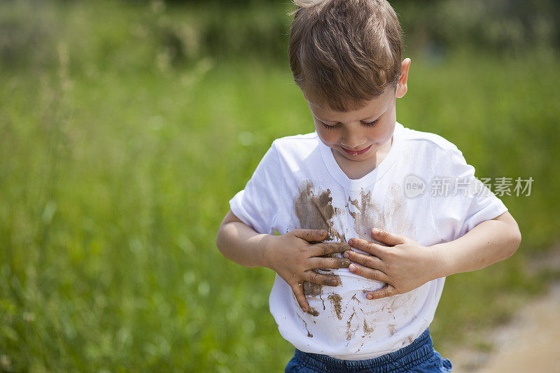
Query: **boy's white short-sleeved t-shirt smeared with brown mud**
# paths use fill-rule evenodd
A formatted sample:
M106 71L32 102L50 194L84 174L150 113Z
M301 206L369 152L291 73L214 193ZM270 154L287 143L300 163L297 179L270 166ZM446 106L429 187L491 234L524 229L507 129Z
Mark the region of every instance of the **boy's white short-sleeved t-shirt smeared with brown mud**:
M453 143L396 123L384 160L353 180L313 132L276 139L230 208L258 233L322 228L329 231L325 241L373 241L371 228L377 227L431 246L458 239L507 211L474 175ZM364 290L384 283L346 268L330 273L342 284L305 287L316 316L302 311L278 274L269 307L281 335L297 349L343 360L375 358L419 337L433 320L445 280L367 300Z

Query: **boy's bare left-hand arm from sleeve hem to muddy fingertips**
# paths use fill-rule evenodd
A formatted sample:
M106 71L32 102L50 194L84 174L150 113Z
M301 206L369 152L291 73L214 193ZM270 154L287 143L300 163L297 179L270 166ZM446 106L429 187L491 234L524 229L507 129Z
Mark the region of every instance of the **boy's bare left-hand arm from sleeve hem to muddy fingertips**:
M216 246L225 258L245 267L268 267L292 288L303 311L309 311L309 304L303 293L304 281L326 286L339 285L337 276L318 274L313 269L347 268L348 259L323 258L321 255L344 253L349 244L321 242L326 231L298 229L280 236L259 234L241 222L229 211L222 221Z

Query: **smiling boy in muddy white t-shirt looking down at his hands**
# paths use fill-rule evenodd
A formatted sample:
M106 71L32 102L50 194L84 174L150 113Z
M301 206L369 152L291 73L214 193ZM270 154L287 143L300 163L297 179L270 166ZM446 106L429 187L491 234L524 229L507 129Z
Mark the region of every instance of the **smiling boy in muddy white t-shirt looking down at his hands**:
M454 144L396 122L410 59L386 1L296 6L290 68L316 131L272 143L216 244L276 272L286 372L449 372L428 330L444 278L512 255L517 223Z

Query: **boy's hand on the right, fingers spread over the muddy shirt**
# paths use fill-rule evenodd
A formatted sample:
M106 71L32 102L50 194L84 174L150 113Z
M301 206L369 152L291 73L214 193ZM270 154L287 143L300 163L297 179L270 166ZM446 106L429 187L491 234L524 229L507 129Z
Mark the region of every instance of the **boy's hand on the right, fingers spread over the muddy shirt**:
M353 238L350 246L367 254L347 251L352 261L349 271L386 285L367 293L367 299L379 299L407 293L437 278L437 268L430 246L422 246L408 237L372 229L372 237L387 246ZM368 255L369 254L369 255Z

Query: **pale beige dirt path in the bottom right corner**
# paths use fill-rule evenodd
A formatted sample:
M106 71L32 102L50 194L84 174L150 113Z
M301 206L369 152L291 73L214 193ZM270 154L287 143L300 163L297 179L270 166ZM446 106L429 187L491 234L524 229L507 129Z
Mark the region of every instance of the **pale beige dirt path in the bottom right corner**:
M554 255L548 266L559 265ZM546 295L531 300L507 325L488 333L493 351L456 351L453 372L560 373L560 282L549 284Z

